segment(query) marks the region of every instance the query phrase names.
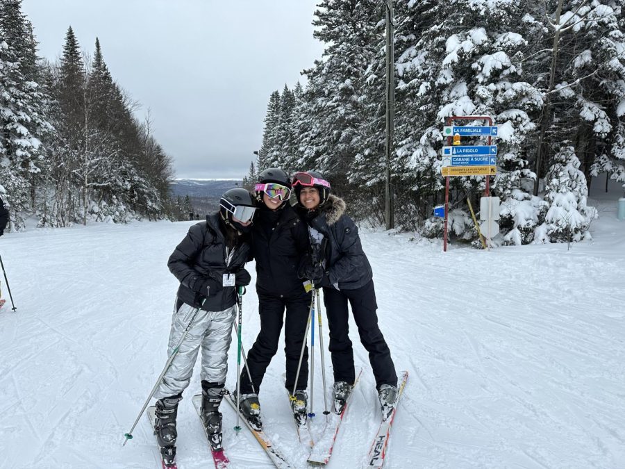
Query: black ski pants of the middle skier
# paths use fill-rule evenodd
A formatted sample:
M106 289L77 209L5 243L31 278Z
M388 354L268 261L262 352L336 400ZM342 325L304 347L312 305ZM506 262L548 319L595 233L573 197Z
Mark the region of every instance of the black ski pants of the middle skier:
M292 392L297 374L297 363L301 345L306 334L306 323L310 311L310 293L302 293L294 297L283 295L267 295L258 291L258 311L260 313L260 332L256 342L247 354L247 365L258 393L263 382L267 366L278 352L278 341L282 325L284 328L284 352L286 355L285 387ZM286 316L284 310L286 308ZM284 318L285 316L285 318ZM245 369L241 372L241 393L252 392L252 387ZM301 370L297 379L297 389L306 389L308 384L308 346L304 349Z

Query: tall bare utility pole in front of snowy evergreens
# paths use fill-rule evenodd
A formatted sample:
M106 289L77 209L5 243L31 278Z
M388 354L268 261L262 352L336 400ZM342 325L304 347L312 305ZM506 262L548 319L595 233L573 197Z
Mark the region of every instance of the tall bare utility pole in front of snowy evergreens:
M384 218L386 229L395 227L393 190L390 182L390 161L393 151L393 133L395 118L395 59L393 40L395 26L393 18L393 0L386 4L386 184L384 201Z

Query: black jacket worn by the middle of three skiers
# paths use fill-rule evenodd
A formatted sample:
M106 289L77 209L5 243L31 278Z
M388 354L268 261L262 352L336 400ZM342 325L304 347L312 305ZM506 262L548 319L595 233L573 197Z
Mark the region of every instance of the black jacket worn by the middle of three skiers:
M308 227L288 202L276 212L260 209L252 228L251 243L258 290L267 295L289 297L305 293L303 280L297 277L297 272L310 251Z

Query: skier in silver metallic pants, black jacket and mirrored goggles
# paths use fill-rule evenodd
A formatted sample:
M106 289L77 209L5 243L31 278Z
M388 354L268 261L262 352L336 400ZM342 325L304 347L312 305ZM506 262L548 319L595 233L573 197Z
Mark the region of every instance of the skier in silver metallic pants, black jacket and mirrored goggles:
M243 265L250 257L249 231L256 204L247 190L237 188L224 193L219 207L219 212L208 215L206 221L190 227L167 261L180 281L169 356L185 329L190 329L154 394L158 399L154 432L165 463L173 463L176 455L178 402L189 386L200 348L202 420L213 448L222 445L222 414L218 409L228 370L236 287L251 280Z

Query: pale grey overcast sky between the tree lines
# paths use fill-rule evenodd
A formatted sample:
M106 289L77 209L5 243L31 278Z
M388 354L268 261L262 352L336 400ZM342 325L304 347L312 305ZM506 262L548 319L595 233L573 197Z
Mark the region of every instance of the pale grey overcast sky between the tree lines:
M315 0L23 0L39 54L60 56L68 26L93 54L98 37L113 79L177 177L242 177L258 150L269 94L292 88L321 58Z

